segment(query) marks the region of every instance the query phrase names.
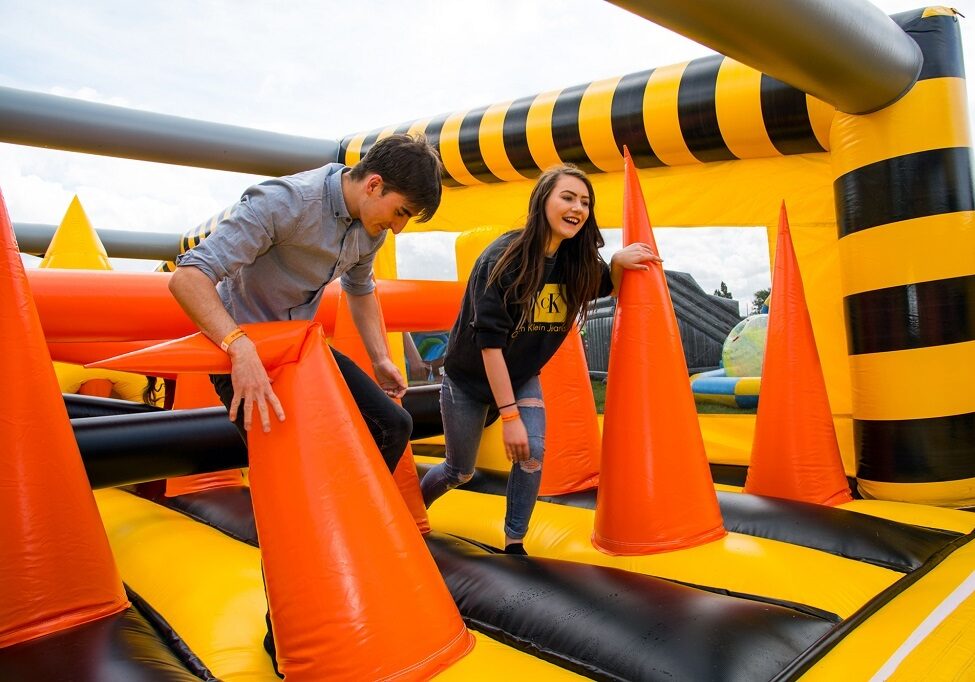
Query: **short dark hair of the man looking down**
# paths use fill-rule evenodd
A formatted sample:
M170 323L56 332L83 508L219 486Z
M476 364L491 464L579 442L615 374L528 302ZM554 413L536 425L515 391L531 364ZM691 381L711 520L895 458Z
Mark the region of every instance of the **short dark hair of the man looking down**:
M397 192L425 223L440 206L443 166L440 155L423 135L390 135L373 144L349 176L362 180L376 173L383 179L383 194Z

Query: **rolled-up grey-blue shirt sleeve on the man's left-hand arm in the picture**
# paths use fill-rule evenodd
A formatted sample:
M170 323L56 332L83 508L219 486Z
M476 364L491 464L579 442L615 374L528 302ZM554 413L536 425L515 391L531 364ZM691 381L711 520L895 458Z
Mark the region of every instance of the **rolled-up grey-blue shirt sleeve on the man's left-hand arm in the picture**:
M287 241L297 227L300 206L298 191L280 178L255 185L210 236L176 259L176 265L198 268L214 284L232 277L273 244Z

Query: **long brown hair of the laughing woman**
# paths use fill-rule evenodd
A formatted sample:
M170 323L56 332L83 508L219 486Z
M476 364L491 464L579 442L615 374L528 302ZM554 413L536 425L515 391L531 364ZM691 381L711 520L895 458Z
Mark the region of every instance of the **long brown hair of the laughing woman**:
M585 322L589 301L599 293L605 261L599 248L605 244L596 225L596 195L592 183L584 172L567 163L550 168L538 178L528 200L528 219L522 230L508 244L488 276L488 286L501 279L502 273L515 273L514 281L504 292L505 303L513 301L521 309L516 326L524 324L535 306L535 295L542 286L545 274L545 249L548 246L549 225L545 217L545 202L563 175L578 178L589 190L589 217L572 239L559 246L565 284L562 298L566 304L567 323L581 315L579 324Z

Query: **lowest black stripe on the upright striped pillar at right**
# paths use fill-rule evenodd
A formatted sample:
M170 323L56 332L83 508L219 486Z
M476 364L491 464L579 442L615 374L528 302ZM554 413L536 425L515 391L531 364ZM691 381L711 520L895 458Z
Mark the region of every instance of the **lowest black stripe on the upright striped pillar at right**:
M853 420L857 475L884 483L975 478L975 412L930 419Z

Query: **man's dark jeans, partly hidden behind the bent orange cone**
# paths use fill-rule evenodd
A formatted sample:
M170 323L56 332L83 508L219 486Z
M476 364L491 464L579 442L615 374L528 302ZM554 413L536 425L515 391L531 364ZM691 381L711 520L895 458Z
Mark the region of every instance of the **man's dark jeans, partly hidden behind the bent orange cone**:
M386 466L389 468L390 473L392 473L396 469L396 465L403 451L406 450L407 443L409 443L410 434L413 431L413 418L410 417L409 412L390 400L376 382L368 374L359 369L359 366L352 362L352 360L334 348L332 349L332 355L335 356L335 362L339 366L342 378L345 379L345 383L352 393L352 398L355 400L355 404L359 408L363 419L365 419L373 440L376 441L376 447L379 448L379 452L383 456ZM213 382L213 387L216 389L217 395L220 396L220 402L229 410L230 402L234 398L234 386L230 380L230 375L211 374L210 381ZM275 417L272 415L272 429L274 429L274 420ZM246 444L247 432L244 430L243 409L238 408L237 420L234 424L237 426L237 430L240 431L240 436ZM253 415L251 428L260 428L260 415ZM327 452L327 445L325 444L323 444L323 451ZM325 456L324 452L323 456ZM267 620L267 637L264 638L264 648L274 662L274 672L278 673L278 660L275 656L270 612L267 613L265 618ZM278 673L278 676L280 677L281 674Z

